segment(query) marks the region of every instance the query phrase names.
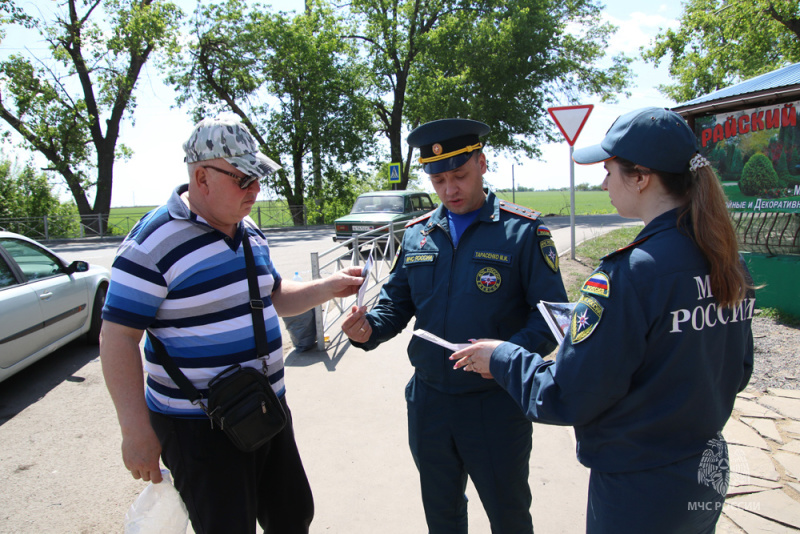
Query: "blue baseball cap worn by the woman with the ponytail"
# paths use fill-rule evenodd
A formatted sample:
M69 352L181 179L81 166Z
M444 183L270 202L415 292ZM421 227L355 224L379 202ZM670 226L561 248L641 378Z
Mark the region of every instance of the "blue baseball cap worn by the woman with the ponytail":
M697 136L683 117L665 108L643 108L621 115L599 145L579 148L575 163L590 165L613 157L656 171L681 174L697 153Z

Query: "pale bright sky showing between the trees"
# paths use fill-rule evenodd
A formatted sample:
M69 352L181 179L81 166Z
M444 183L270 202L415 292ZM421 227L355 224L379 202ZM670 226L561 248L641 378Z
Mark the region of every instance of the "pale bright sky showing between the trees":
M40 2L41 0L32 3ZM191 13L195 5L194 0L178 0L178 3L187 13ZM282 11L299 11L303 8L303 0L265 3L271 3L275 9ZM633 55L640 46L647 45L660 29L677 26L680 12L680 3L674 0L608 0L603 16L619 28L610 42L609 55L622 51ZM9 35L0 49L8 49L14 44L13 36ZM636 78L629 98L621 98L616 104L601 104L592 99L580 102L593 104L594 109L575 143L576 148L599 143L614 119L623 113L645 106L675 105L675 102L656 89L657 85L669 82L665 66L656 69L642 61L636 61L632 66ZM121 132L121 142L130 147L134 155L128 161L115 165L112 206L161 204L177 184L186 181L181 144L189 137L193 124L186 111L171 109L175 94L159 81L159 73L155 67L146 66L144 74L137 85L135 124L125 123ZM568 103L561 103L566 104ZM2 129L5 130L6 127ZM489 144L491 145L491 140ZM570 162L567 142L545 145L542 152L541 161L526 159L514 162L501 154L488 151L487 157L493 168L486 174L487 181L495 188L510 188L513 165L518 187L568 187ZM575 166L576 184L599 184L603 176L601 166Z

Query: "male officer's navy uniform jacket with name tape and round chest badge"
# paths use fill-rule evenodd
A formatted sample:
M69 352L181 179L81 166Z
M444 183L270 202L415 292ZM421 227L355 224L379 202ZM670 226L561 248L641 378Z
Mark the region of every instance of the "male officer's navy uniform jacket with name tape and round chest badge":
M537 217L489 193L457 249L444 206L418 220L406 230L392 275L367 314L369 341L354 345L374 349L416 316L415 329L452 343L494 338L551 352L555 339L536 303L563 302L566 293L550 231ZM439 391L498 387L478 374L454 370L452 351L418 336L411 338L408 354L417 378Z

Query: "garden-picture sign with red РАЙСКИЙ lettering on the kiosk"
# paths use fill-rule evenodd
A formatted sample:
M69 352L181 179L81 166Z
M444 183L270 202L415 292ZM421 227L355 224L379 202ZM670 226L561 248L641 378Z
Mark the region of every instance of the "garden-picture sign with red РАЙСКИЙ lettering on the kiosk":
M698 117L700 152L732 211L800 212L798 103Z

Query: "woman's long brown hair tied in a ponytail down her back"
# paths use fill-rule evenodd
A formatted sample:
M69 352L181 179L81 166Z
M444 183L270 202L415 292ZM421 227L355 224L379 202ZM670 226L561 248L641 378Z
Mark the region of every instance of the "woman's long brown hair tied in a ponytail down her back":
M696 170L673 174L641 166L616 158L626 174L650 172L658 176L670 195L687 199L678 215L678 226L686 228L685 218L691 221L689 235L708 261L711 270L711 292L723 306L734 306L745 296L748 282L739 260L736 232L731 224L725 192L714 169L706 164Z

